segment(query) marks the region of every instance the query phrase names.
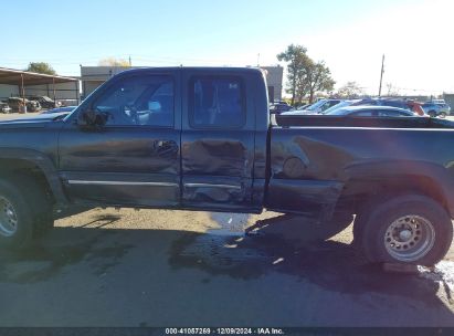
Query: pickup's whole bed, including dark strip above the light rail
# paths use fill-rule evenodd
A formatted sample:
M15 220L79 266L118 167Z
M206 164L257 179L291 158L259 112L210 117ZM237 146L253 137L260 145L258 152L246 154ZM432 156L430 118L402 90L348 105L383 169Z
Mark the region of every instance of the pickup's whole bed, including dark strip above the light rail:
M340 198L414 179L442 186L434 192L454 214L453 130L452 122L424 117L277 116L267 206L329 217Z

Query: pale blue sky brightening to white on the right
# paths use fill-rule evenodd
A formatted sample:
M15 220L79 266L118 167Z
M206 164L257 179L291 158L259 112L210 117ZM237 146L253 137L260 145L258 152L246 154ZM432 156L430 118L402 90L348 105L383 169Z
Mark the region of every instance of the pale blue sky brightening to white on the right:
M324 61L336 87L454 93L452 0L14 0L2 2L0 66L47 62L59 74L133 65L276 65L289 44ZM260 56L258 56L260 54Z

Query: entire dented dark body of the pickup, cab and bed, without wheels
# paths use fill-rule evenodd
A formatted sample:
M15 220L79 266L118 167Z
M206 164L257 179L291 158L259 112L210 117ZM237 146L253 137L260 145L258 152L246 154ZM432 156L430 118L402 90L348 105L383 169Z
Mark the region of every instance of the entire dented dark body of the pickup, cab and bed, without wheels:
M94 102L136 75L172 78L171 125L81 124L81 116L94 113ZM241 92L233 102L244 113L241 123L191 123L194 78L231 78L229 87ZM210 113L222 105L217 94L202 98L213 105ZM454 217L453 136L452 123L431 118L281 116L272 124L258 70L139 69L114 76L63 120L0 123L0 160L34 162L59 203L67 206L254 213L266 208L326 221L341 204L384 186L418 186Z

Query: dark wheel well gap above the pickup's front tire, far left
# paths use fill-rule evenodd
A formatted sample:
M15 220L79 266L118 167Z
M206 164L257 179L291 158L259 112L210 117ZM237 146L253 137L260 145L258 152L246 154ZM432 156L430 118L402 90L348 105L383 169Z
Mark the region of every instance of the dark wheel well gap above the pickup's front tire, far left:
M49 195L52 203L55 198L42 169L34 162L23 159L0 159L0 177L25 175L32 177Z

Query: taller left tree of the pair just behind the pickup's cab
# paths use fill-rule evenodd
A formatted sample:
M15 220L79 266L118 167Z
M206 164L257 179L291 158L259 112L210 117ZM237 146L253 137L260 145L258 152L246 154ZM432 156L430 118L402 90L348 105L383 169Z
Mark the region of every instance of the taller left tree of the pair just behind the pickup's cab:
M302 71L304 70L304 63L307 61L308 56L306 54L307 49L303 45L291 44L287 50L277 55L278 61L288 62L287 65L287 80L289 83L289 88L287 93L292 94L292 105L295 104L295 97L298 94L300 96L302 92L298 87L302 85Z

